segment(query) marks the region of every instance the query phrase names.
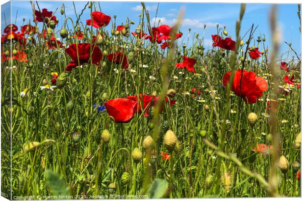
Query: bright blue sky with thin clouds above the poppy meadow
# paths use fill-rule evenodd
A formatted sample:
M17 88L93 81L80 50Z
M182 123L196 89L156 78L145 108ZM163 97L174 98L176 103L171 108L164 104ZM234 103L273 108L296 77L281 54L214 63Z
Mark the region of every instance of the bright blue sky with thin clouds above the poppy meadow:
M35 1L34 1L35 2ZM87 1L75 1L76 13L79 14L86 4ZM55 16L59 20L59 29L62 26L64 20L63 16L59 13L61 4L64 3L66 6L66 15L75 19L75 11L72 1L38 1L40 9L47 8L48 10L58 11ZM99 9L98 4L97 9ZM117 23L125 23L126 17L135 22L135 25L131 27L131 30L135 30L137 27L139 17L141 13L140 2L100 2L101 11L107 15L116 15ZM5 10L5 5L1 6L1 29L4 27L4 13L6 20L9 21L9 12ZM35 5L36 6L36 5ZM37 6L36 6L37 7ZM150 18L153 22L155 21L155 14L157 8L157 2L147 2L146 7L150 12ZM228 35L235 39L235 22L239 16L239 3L159 3L159 9L157 12L156 25L158 19L161 20L162 24L174 25L178 11L181 7L185 8L184 21L181 25L180 30L184 33L182 39L179 42L187 41L188 29L191 28L190 41L193 38L194 32L199 33L200 37L203 35L203 25L206 24L204 33L205 48L210 48L212 44L211 34L216 33L216 24L220 24L220 27L226 26ZM247 4L246 12L242 22L241 35L244 35L248 29L251 28L252 24L258 25L255 31L255 38L258 35L264 33L266 43L271 47L271 30L269 25L269 13L271 4ZM301 55L301 33L299 31L299 18L298 18L298 5L297 4L279 4L278 6L278 23L281 31L282 43L280 46L280 54L284 54L288 51L288 46L283 43L287 41L293 44L293 48L296 50L298 55ZM17 18L16 18L17 15ZM81 17L82 22L85 23L86 19L90 17L90 10L86 9ZM16 23L17 26L23 24L23 18L25 22L30 19L32 22L32 10L30 2L24 1L12 1L12 23ZM16 22L15 22L16 20ZM245 39L248 38L248 35ZM244 39L244 41L245 41ZM190 42L191 44L191 42ZM289 59L290 54L284 54L284 58Z

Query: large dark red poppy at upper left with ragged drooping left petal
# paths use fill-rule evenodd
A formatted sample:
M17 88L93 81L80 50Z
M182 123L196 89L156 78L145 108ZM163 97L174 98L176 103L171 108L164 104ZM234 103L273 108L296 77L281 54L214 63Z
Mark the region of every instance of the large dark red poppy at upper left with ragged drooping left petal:
M92 50L92 53L90 52ZM90 43L78 43L78 57L77 58L77 46L75 43L71 44L65 52L72 58L72 61L66 66L67 71L71 71L73 68L76 68L78 65L83 63L92 63L99 65L99 62L102 59L102 53L98 46L91 45Z

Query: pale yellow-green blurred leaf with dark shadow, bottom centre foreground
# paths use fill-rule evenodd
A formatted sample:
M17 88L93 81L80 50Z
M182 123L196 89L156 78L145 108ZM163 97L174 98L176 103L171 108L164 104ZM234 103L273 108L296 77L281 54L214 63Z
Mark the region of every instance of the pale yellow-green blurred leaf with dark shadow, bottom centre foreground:
M148 188L147 196L148 198L162 198L165 195L166 189L167 189L166 180L155 179Z

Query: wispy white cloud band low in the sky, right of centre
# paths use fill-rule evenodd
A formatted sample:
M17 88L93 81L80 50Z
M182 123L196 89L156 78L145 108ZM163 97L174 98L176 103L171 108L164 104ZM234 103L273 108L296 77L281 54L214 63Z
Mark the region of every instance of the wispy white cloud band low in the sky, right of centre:
M154 23L154 21L156 20L156 23L160 20L161 24L166 24L166 25L170 25L173 26L174 24L176 24L177 19L172 19L172 20L168 20L165 17L162 18L153 18L151 20L152 23ZM182 27L195 27L195 28L203 28L204 25L206 25L206 27L216 27L218 23L212 23L212 22L200 22L199 20L195 20L195 19L183 19L181 26Z

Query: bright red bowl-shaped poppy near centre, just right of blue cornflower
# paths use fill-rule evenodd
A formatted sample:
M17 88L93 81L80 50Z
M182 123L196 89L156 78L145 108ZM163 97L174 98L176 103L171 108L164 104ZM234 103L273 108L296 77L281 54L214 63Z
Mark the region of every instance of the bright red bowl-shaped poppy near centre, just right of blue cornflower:
M137 103L128 98L116 98L105 102L104 106L116 123L127 123L133 118Z

